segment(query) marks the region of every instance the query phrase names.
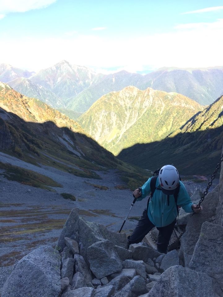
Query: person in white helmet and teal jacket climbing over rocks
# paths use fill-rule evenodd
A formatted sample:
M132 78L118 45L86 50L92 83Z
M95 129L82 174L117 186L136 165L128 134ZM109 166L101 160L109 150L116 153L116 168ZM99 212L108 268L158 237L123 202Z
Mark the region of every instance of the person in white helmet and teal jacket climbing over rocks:
M158 176L151 177L142 186L141 191L136 189L133 196L136 201L141 201L151 193L147 207L142 213L133 233L127 237L128 248L132 243L139 243L153 227L159 230L157 250L167 253L167 246L177 222L179 213L178 205L186 213L199 213L203 208L197 208L190 200L184 184L180 181L177 169L172 165L165 165L159 171Z

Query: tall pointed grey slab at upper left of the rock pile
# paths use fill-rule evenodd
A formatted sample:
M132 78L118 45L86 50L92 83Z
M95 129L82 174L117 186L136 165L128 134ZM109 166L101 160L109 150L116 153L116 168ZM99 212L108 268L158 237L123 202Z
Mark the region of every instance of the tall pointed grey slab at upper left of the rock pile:
M56 249L59 252L62 252L63 248L65 247L64 237L71 237L74 236L74 239L78 238L78 229L79 229L79 208L73 208L70 212L67 221L60 232L59 238L56 243Z

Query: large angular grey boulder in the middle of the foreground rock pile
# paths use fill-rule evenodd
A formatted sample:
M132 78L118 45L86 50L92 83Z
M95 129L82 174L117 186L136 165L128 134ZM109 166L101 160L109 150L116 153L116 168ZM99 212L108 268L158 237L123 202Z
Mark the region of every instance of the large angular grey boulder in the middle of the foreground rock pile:
M120 260L115 245L109 241L99 241L92 244L87 249L90 270L96 278L103 278L122 269L122 261Z

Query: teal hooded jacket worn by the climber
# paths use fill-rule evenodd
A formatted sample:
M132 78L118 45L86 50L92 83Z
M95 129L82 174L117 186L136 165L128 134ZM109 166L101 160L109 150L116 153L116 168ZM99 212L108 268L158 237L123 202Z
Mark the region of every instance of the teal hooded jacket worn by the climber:
M136 201L141 201L151 193L151 178L142 186L142 196ZM161 188L159 179L156 180L156 187ZM192 213L192 202L183 183L180 182L180 191L177 196L177 205L181 206L186 213ZM169 206L167 195L160 190L155 190L148 207L148 217L156 227L165 227L171 224L177 217L177 207L173 195L169 195Z

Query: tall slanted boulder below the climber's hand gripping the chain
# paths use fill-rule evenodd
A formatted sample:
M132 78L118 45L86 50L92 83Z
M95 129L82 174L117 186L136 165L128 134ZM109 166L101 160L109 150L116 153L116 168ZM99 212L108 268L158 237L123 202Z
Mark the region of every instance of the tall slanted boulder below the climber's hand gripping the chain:
M195 245L199 239L201 226L204 222L212 222L216 215L217 192L209 192L202 202L203 211L189 218L186 232L181 237L179 258L185 267L189 266Z

